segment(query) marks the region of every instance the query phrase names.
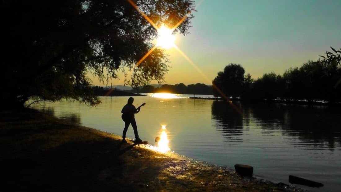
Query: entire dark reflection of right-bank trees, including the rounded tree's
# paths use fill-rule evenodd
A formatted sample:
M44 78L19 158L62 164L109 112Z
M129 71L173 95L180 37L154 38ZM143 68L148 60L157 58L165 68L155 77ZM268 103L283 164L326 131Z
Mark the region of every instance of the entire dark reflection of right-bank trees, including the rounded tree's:
M243 116L224 101L213 101L212 123L224 138L242 135L242 130L260 128L262 135L278 134L297 138L292 145L334 150L341 145L340 109L328 106L288 104L242 104L235 105ZM252 121L252 126L249 125ZM239 138L240 139L240 138Z

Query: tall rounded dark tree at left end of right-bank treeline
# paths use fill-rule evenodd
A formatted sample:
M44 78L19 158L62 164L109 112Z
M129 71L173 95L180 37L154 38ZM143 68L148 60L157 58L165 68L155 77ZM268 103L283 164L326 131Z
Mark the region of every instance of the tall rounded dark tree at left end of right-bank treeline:
M226 65L224 71L218 72L217 77L212 81L213 87L221 91L213 89L214 97L223 96L221 93L225 94L226 97L239 97L243 91L244 73L245 70L240 64L230 63Z

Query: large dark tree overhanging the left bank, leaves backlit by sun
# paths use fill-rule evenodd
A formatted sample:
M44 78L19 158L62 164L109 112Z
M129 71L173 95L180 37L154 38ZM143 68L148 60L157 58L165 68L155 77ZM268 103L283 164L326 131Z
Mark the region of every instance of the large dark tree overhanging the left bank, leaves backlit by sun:
M174 32L188 33L192 0L2 1L1 103L22 106L36 97L98 104L87 73L105 82L131 70L132 86L162 82L164 50L135 65L153 47L157 31L132 3L156 26L171 28L187 15Z

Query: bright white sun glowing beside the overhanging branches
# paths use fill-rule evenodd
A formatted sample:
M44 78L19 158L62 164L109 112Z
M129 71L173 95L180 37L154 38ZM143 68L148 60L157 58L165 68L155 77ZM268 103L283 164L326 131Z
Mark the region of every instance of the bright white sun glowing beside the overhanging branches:
M164 49L170 49L174 47L174 41L175 41L175 35L172 34L173 30L168 29L164 25L162 25L158 29L158 39L156 46L157 47L162 47Z

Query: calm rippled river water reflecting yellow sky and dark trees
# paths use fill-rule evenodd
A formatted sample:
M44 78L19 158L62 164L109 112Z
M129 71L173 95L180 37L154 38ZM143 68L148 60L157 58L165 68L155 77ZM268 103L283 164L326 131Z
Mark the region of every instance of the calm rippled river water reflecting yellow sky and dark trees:
M195 95L211 97L211 95ZM169 147L190 158L233 167L248 164L254 176L288 183L295 175L317 182L313 191L337 191L341 184L341 110L337 107L177 98L134 97L139 135L154 144L166 125ZM121 109L129 97L101 97L97 107L64 101L35 105L60 118L122 134ZM132 127L127 137L134 138Z

